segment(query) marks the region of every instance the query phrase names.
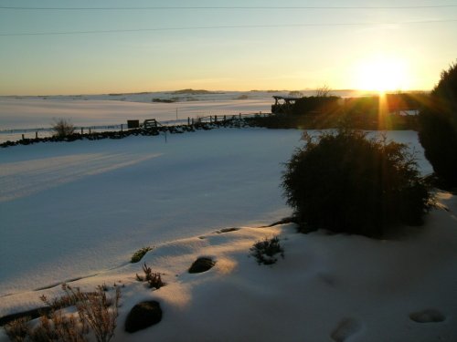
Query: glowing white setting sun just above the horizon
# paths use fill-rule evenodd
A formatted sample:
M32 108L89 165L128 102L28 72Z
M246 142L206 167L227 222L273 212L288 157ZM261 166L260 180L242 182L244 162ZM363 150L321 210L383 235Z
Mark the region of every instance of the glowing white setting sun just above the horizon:
M399 58L375 57L358 63L357 88L378 92L393 91L408 86L406 64Z

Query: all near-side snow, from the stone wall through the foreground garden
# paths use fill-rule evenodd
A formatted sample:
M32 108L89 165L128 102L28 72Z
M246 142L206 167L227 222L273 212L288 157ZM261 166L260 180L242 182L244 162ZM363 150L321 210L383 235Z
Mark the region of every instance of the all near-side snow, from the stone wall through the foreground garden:
M293 224L260 228L291 213L279 184L301 133L223 129L166 142L0 150L0 316L41 306L40 295L58 295L59 283L80 278L70 284L122 286L114 341L457 340L454 195L439 192L441 207L424 227L388 240L301 234ZM417 150L420 171L430 173L416 132L387 134ZM230 227L239 229L220 231ZM257 264L250 246L273 235L285 257ZM154 250L129 264L145 245ZM199 256L215 267L188 274ZM135 280L143 262L164 274L164 287ZM123 332L130 308L144 299L161 303L163 320ZM444 320L411 319L424 310Z

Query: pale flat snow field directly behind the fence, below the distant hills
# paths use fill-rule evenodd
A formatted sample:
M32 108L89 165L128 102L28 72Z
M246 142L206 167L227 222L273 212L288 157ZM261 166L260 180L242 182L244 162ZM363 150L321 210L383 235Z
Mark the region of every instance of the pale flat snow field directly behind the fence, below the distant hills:
M127 127L127 120L156 119L162 124L187 124L187 118L209 115L238 115L271 111L271 99L245 99L238 101L195 101L177 103L141 103L113 100L81 99L0 99L0 142L25 138L48 137L52 135L56 119L66 119L86 132L115 130Z

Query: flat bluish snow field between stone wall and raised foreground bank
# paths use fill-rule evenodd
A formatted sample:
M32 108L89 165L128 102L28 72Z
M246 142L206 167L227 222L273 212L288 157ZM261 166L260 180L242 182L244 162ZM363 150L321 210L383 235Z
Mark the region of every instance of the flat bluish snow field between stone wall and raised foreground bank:
M293 130L212 130L166 142L133 137L1 150L0 294L97 273L143 244L287 215L278 177L299 139Z

